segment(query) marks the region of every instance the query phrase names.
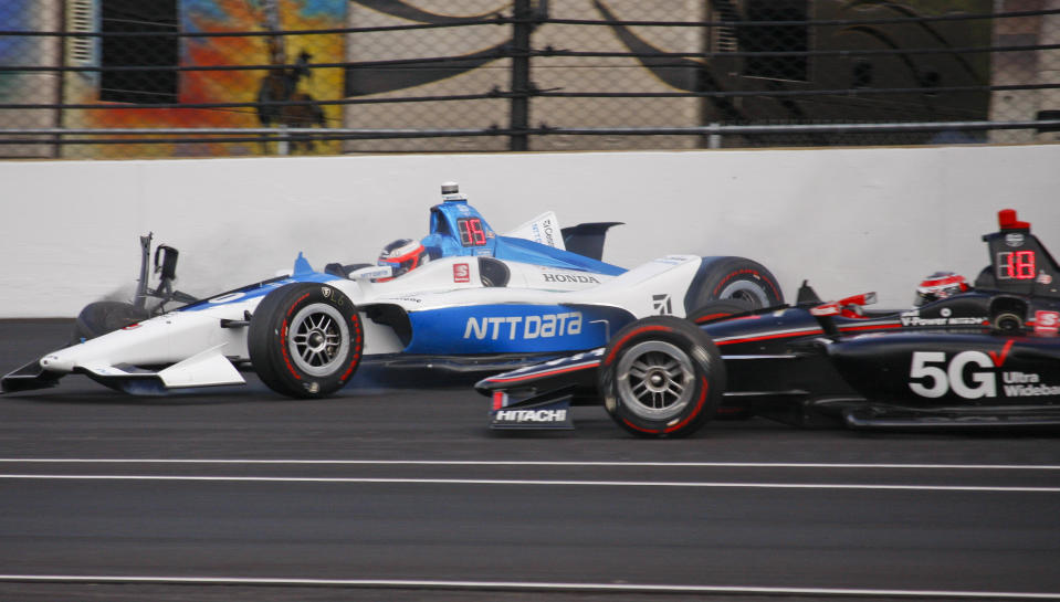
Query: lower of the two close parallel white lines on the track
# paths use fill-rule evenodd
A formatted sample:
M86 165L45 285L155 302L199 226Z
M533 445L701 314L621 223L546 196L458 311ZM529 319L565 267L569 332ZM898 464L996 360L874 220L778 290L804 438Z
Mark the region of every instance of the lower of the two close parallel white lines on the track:
M172 480L220 483L336 483L336 484L409 484L409 485L535 485L580 487L701 487L745 489L860 489L905 492L997 492L1060 493L1060 487L993 487L984 485L874 485L831 483L725 483L667 480L553 480L493 478L364 478L364 477L282 477L282 476L186 476L186 475L34 475L0 474L0 479L31 480Z

